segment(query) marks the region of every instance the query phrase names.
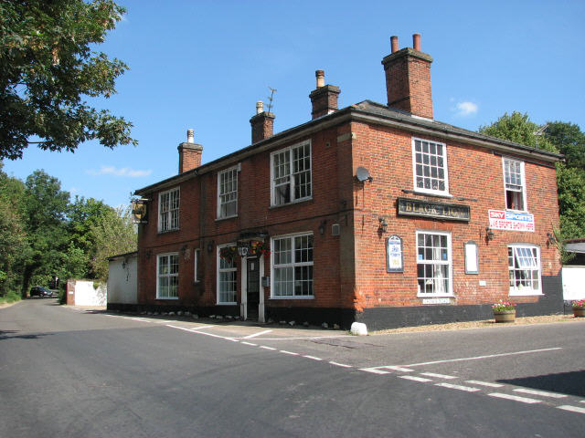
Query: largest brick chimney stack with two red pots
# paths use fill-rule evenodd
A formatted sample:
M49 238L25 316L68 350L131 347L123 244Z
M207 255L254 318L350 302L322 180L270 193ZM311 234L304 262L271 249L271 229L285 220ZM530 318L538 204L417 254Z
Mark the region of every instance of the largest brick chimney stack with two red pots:
M412 46L399 50L399 37L390 37L391 53L382 59L388 107L432 119L432 57L420 51L420 34L412 36Z

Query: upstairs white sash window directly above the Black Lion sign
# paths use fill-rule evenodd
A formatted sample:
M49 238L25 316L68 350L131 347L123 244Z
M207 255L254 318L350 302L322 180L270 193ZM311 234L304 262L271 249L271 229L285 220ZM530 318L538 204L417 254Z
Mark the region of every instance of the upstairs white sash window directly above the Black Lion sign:
M412 156L414 189L417 192L448 194L446 145L412 139Z

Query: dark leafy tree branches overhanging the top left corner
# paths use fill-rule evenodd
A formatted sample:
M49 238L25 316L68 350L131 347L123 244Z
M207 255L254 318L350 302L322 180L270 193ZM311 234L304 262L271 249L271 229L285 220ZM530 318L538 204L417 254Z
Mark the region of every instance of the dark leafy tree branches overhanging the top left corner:
M132 123L96 110L84 97L108 98L127 66L92 50L125 9L112 0L0 2L0 159L37 144L75 151L98 140L136 145Z

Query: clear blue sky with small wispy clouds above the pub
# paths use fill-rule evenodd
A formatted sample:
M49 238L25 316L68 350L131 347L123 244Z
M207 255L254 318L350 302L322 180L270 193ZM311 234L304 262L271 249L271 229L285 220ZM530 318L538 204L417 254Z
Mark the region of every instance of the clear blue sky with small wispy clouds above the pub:
M177 172L177 145L192 128L203 162L250 144L257 100L277 89L274 131L311 119L314 71L341 88L339 107L386 103L380 61L412 47L433 57L436 120L469 130L514 110L585 130L585 2L574 1L154 1L128 12L98 47L126 62L118 94L92 102L134 124L137 147L78 151L31 147L5 172L37 169L72 195L129 202L134 190Z

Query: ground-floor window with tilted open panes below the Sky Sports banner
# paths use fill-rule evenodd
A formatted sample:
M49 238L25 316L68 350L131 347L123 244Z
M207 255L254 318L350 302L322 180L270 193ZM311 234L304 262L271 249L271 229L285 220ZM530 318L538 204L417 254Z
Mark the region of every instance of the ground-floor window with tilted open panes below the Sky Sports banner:
M508 246L510 295L541 294L540 251L535 245Z

